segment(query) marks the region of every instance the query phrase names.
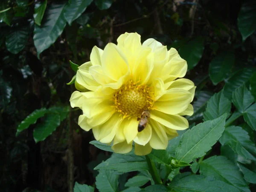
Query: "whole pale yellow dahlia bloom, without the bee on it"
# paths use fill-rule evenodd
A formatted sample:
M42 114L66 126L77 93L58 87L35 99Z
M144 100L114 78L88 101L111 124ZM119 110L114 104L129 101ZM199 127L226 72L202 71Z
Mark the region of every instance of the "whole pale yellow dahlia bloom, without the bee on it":
M189 127L183 116L193 114L195 85L177 79L186 71L187 63L176 49L168 51L152 38L141 44L139 34L125 33L117 45L93 47L90 61L76 74L77 83L90 91L75 91L70 104L83 111L80 127L92 129L101 143L113 142L116 153L128 153L134 142L135 154L149 154L152 148L166 149L176 130ZM151 116L138 132L144 110Z

